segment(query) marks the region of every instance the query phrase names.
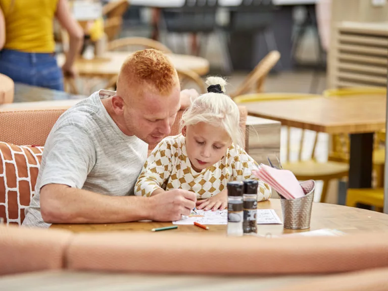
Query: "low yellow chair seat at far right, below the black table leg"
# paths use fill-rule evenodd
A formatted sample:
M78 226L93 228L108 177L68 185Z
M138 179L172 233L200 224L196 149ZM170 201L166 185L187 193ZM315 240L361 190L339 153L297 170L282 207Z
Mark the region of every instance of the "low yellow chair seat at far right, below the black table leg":
M349 188L346 195L346 206L356 207L357 203L376 207L376 211L382 212L384 207L383 188Z

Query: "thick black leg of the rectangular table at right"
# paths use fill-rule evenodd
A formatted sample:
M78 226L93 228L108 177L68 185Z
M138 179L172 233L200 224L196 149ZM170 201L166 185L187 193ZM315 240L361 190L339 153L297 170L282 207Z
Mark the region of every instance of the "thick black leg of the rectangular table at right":
M351 134L349 188L372 186L373 132Z

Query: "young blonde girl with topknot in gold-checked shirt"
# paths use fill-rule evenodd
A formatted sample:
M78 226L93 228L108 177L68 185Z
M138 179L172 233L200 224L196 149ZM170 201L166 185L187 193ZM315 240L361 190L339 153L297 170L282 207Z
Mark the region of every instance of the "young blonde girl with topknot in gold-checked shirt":
M197 208L223 210L229 181L255 179L258 164L242 148L237 105L225 95L225 80L209 77L208 93L183 113L181 134L164 138L151 153L135 184L138 196L180 188L197 193ZM258 201L271 188L259 181Z

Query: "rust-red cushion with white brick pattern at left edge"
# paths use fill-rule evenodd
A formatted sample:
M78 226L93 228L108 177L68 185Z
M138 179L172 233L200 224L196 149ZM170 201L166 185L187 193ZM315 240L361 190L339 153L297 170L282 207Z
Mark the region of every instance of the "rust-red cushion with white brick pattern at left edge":
M0 142L0 217L7 224L24 220L35 192L43 147Z

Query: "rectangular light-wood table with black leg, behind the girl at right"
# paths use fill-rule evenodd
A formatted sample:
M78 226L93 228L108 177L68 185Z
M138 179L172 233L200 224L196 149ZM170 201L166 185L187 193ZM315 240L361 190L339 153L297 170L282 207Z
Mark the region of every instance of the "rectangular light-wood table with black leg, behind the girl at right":
M244 103L249 115L278 120L282 125L350 134L350 188L370 188L373 132L385 128L386 96L321 97Z

